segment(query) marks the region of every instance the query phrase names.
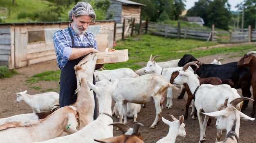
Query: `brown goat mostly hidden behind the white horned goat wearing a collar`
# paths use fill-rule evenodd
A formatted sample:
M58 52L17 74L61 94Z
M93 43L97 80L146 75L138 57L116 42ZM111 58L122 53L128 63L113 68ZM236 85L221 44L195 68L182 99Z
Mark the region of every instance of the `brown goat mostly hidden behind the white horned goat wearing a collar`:
M173 72L172 76L171 76L171 84L173 84L173 80L178 76L179 72ZM211 84L211 85L220 85L222 84L222 81L220 80L220 78L215 78L215 77L211 77L211 78L198 78L200 81L200 85L202 84ZM185 111L185 115L184 115L184 119L188 119L188 115L189 115L189 105L191 104L191 101L193 100L193 94L191 93L189 86L187 84L184 84L184 87L186 89L186 93L188 93L188 100L186 102L186 111ZM194 113L194 117L196 117L196 110Z

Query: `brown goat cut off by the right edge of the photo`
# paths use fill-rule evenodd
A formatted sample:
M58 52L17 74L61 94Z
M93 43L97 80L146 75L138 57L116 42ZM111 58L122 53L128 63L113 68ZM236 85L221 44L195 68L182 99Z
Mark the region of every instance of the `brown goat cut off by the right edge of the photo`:
M256 106L256 57L255 57L256 51L248 52L243 56L243 58L238 61L237 65L238 67L249 67L250 72L252 74L252 80L251 80L251 85L253 89L253 106L252 106L252 113L251 117L254 117L255 115L255 106Z

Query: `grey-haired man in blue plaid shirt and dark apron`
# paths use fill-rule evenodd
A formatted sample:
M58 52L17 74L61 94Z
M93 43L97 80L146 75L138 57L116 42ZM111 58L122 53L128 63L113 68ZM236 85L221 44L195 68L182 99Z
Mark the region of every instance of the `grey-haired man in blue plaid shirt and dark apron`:
M76 102L76 75L74 66L89 53L97 53L98 47L92 33L86 32L90 22L95 21L96 14L92 6L78 2L69 12L70 26L54 33L53 41L58 67L61 69L60 107ZM96 69L102 65L96 65ZM93 76L95 85L95 78ZM94 93L94 119L97 118L96 94Z

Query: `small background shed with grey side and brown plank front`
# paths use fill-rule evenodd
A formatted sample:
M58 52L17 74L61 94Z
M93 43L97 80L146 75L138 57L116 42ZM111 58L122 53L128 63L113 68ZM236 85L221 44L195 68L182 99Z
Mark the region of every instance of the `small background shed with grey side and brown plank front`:
M106 17L122 23L124 19L131 20L135 18L135 23L139 23L141 6L146 6L130 0L110 0L110 6L106 13Z

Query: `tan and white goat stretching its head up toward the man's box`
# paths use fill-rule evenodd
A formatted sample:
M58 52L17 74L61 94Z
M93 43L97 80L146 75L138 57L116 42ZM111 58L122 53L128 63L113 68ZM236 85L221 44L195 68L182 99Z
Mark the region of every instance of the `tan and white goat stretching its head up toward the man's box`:
M83 128L93 121L95 101L93 92L90 91L87 81L93 82L93 74L97 61L96 54L88 54L77 65L74 66L77 82L77 99L75 106L80 114L80 127Z

